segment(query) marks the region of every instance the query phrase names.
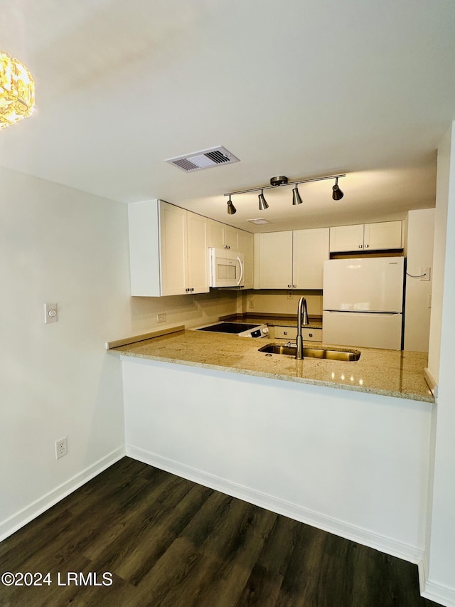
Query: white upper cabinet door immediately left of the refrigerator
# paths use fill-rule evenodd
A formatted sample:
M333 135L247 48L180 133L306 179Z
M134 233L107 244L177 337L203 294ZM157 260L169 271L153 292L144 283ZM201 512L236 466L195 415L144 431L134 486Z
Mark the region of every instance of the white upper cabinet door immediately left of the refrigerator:
M322 289L323 262L329 258L328 228L293 233L292 283L297 289Z

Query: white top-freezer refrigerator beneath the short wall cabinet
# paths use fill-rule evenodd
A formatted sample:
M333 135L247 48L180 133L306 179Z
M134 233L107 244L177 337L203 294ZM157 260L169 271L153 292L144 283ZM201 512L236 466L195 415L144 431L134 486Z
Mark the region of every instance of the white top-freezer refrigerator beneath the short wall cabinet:
M323 342L400 350L404 278L404 257L324 261Z

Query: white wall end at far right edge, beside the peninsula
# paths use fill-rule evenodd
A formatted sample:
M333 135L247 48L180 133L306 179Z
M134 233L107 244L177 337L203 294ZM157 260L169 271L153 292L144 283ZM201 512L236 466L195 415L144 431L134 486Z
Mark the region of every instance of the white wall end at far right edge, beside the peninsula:
M429 360L432 373L439 377L436 419L436 449L429 568L426 590L445 597L446 605L455 605L455 137L454 125L447 133L438 154L437 217L435 226L435 273L437 260L443 258L435 276L433 301L441 310L441 324L432 315L432 340ZM440 208L438 208L440 207ZM437 278L437 280L436 280ZM433 322L434 321L434 322ZM440 357L438 338L440 337ZM441 601L442 602L442 601Z

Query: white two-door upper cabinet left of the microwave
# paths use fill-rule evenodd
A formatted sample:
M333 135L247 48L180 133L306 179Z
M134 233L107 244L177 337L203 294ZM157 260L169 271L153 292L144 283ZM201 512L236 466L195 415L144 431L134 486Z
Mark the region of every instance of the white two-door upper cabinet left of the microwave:
M164 201L129 204L131 294L209 291L208 220Z

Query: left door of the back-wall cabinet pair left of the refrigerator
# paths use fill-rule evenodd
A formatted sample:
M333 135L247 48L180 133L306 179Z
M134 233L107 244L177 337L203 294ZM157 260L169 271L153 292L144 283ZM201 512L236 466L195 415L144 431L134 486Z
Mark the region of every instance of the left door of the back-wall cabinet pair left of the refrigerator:
M259 288L292 288L292 232L259 235Z

